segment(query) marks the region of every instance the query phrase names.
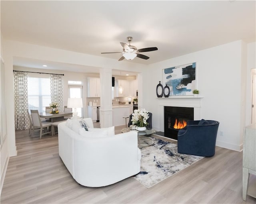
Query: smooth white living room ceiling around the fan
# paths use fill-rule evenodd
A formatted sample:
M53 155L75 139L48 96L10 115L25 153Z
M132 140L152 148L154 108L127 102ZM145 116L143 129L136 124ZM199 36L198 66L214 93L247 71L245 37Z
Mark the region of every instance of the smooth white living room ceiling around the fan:
M122 51L120 42L132 36L138 49L158 47L143 53L150 59L133 60L147 65L239 39L256 41L256 1L1 0L1 33L116 60L120 53L101 52ZM22 66L22 60L14 63Z

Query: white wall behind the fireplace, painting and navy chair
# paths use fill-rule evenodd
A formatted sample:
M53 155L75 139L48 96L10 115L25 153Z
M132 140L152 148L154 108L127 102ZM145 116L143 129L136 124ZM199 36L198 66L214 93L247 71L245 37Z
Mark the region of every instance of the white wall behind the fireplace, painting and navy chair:
M197 88L201 101L201 118L220 122L216 144L240 151L242 149L242 41L212 47L183 55L149 66L143 73L143 107L153 113L153 128L164 131L160 108L161 100L156 96L156 85L162 81L162 69L196 62ZM172 100L170 97L168 100ZM186 99L181 99L186 100ZM224 132L224 136L219 135Z

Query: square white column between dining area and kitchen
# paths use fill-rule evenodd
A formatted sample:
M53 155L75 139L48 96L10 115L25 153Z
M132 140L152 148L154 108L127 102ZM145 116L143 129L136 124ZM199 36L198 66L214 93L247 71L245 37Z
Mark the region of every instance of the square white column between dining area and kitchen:
M100 127L112 126L112 69L100 69Z

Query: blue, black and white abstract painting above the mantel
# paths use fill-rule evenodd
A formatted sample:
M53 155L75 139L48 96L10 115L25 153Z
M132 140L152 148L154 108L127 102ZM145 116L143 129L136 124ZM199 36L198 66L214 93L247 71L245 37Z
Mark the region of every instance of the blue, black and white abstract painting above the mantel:
M196 89L196 63L162 70L163 86L170 87L170 96L190 96Z

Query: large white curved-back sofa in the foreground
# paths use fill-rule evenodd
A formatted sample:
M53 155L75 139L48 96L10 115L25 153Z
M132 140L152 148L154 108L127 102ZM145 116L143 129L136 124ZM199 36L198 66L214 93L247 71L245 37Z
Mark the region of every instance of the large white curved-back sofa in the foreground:
M90 120L87 124L92 127ZM60 158L72 177L83 186L107 186L140 172L141 151L134 131L84 137L63 122L58 124L58 142Z

